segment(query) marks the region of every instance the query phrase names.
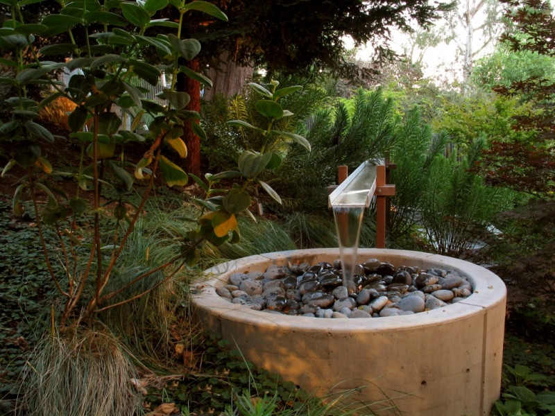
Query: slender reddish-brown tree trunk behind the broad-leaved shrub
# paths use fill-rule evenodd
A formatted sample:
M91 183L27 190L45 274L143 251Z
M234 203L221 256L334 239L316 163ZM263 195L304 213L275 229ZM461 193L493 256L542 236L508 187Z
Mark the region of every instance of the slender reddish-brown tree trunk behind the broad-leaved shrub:
M198 72L200 62L198 59L191 60L188 62L187 67ZM191 97L191 101L189 101L185 110L192 110L200 113L200 83L185 76L183 73L180 73L178 77L176 89L178 91L187 92ZM191 123L196 123L196 121L191 121ZM187 173L200 176L200 138L194 134L189 123L185 123L183 126L182 139L187 145L187 157L185 158L183 168Z

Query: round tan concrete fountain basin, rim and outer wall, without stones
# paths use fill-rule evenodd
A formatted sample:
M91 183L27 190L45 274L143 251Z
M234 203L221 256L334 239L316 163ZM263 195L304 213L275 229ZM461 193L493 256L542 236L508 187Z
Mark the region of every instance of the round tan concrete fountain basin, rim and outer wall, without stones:
M323 319L254 311L216 294L234 272L271 264L332 262L339 249L244 257L205 271L191 291L195 319L229 340L248 361L316 395L353 390L350 400L388 404L379 415L489 415L501 386L506 288L467 261L405 250L360 249L357 261L455 269L468 277L465 300L414 315ZM388 407L388 406L377 406Z

